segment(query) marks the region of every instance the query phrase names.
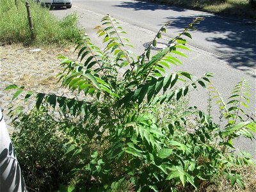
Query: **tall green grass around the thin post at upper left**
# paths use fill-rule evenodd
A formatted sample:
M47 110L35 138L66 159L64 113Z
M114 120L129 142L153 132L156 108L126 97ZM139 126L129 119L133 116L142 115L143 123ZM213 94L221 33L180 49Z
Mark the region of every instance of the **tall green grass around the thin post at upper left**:
M62 20L56 19L47 8L29 1L33 21L35 40L31 42L28 15L25 1L2 0L0 6L0 40L3 42L22 42L24 44L65 45L74 42L81 33L77 26L77 15L67 15Z

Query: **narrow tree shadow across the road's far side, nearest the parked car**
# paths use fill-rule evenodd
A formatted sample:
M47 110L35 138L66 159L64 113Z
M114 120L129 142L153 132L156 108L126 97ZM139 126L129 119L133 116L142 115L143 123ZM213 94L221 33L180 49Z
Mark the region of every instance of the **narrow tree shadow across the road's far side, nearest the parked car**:
M136 11L140 10L173 10L175 12L185 12L186 9L180 7L173 7L168 6L166 4L159 4L159 3L148 3L147 1L132 1L132 2L122 2L121 4L115 5L115 7L122 7L122 8L132 8Z

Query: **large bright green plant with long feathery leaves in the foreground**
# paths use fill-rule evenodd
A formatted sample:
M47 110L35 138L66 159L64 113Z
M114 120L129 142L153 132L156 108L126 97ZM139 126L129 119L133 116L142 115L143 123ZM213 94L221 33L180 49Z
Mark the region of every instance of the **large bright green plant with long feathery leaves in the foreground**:
M245 155L239 157L227 150L234 148L234 138L252 139L250 131L255 132L255 122L241 108L248 106L244 102L248 100L244 91L246 81L237 84L227 104L211 87L220 98L220 109L225 110L221 116L227 125L222 127L202 111L183 110L179 105L190 90L211 83L211 73L195 77L188 72L166 72L181 64L176 56L186 56L181 52L188 49L185 38L191 38L189 30L195 30L200 20L203 19L193 20L156 54L152 55L148 47L135 56L127 49L132 45L122 36L125 32L118 21L108 15L102 19L102 26L96 28L106 44L103 51L84 35L77 40L79 62L60 56L63 72L58 77L62 86L78 96L37 93L36 107L45 102L61 113L57 122L68 138L66 154L79 159L70 172L75 178L75 189L198 189L204 180L221 174L227 175L232 186L238 184L243 188L243 179L235 168L253 162ZM157 44L169 24L158 31L152 45ZM16 85L6 90L13 88L17 89L13 99L24 92L23 87ZM24 93L25 99L33 95Z

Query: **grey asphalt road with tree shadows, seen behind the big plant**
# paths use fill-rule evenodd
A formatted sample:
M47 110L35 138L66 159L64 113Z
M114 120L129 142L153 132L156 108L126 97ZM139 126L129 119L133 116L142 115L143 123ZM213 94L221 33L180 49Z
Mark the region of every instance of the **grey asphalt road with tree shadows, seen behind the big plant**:
M103 46L102 40L97 38L93 28L100 24L104 15L109 14L120 20L136 54L143 52L143 44L150 42L164 23L173 20L162 42L177 35L193 18L204 17L205 21L198 25L198 30L191 32L193 40L189 40L189 47L193 51L186 52L189 58L180 58L184 65L173 67L172 70L185 70L196 76L214 72L212 82L224 98L228 97L237 82L247 79L252 87L250 108L255 111L255 22L142 1L73 1L72 4L71 9L51 12L61 18L76 11L81 26L99 47ZM199 88L191 93L191 105L206 110L207 98L207 92ZM215 119L218 118L218 106L212 108L212 114ZM255 141L241 138L236 141L236 146L250 152L255 158Z

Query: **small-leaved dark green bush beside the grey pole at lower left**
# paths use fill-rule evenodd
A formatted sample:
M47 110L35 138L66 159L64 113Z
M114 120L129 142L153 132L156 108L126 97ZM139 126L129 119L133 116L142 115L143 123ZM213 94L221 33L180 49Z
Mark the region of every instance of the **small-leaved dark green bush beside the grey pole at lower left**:
M28 189L52 191L59 183L68 184L74 161L65 155L65 133L47 109L20 113L14 126L19 131L12 134L13 145Z

